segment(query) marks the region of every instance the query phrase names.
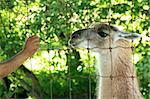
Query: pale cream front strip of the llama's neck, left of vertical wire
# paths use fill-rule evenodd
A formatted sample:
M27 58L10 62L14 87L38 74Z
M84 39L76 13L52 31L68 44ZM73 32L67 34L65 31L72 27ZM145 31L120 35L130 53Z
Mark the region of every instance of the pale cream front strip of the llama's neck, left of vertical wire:
M111 61L108 54L96 54L96 70L98 75L97 99L109 99L111 97L111 80L107 76L111 75Z

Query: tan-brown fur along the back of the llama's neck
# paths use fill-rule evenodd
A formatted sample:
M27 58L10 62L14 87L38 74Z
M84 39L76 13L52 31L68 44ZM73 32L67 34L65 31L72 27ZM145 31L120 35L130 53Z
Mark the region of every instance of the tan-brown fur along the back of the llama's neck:
M129 42L119 40L117 46L130 46ZM142 99L139 92L136 72L131 57L131 48L118 48L112 69L112 96L117 99Z

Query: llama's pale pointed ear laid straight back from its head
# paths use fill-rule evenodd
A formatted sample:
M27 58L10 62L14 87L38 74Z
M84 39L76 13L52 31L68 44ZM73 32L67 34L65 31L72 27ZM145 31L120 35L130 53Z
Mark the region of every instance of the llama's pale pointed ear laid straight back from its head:
M118 34L119 39L126 39L126 40L134 40L140 38L140 34L138 33L125 33L121 32Z

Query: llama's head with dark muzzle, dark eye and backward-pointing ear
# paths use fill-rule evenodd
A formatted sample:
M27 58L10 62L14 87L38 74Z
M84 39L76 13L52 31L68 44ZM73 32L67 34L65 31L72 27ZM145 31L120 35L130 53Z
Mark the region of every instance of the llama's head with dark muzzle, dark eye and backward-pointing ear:
M102 23L75 31L70 37L69 45L101 52L103 49L116 47L119 41L131 41L138 37L140 35L137 33L126 33L114 26Z

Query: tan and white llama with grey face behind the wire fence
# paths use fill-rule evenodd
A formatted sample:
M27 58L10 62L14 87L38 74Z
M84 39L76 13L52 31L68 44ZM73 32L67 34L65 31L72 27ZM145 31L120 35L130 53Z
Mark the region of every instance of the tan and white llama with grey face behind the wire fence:
M70 46L97 54L97 99L143 99L131 57L130 41L138 37L105 23L71 35Z

